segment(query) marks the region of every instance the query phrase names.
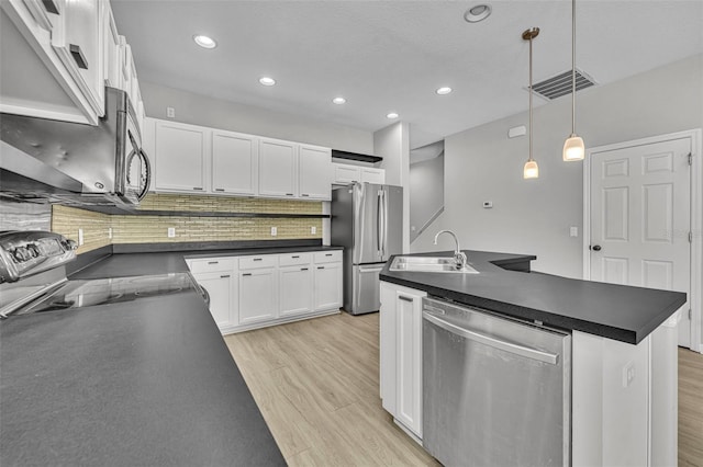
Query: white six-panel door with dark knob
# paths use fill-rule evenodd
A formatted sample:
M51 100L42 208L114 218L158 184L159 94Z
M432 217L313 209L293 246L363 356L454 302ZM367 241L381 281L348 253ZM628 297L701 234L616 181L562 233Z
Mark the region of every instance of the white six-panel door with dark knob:
M680 138L591 152L591 280L685 292L690 303L691 150ZM690 344L684 314L679 345Z

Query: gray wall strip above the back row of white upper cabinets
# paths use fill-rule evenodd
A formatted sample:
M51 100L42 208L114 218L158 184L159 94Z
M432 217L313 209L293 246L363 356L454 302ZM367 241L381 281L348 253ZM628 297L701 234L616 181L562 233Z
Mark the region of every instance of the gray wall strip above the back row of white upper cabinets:
M141 82L140 86L146 115L154 118L308 143L352 152L373 151L373 134L364 129L212 99L152 82ZM166 107L176 110L176 118L166 117Z

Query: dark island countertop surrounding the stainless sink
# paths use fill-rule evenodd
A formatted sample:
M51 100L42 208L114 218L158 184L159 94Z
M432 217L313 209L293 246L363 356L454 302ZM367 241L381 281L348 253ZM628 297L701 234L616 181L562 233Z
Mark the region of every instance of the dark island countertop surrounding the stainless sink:
M510 271L534 255L465 253L480 274L390 272L389 261L380 277L460 304L631 344L639 343L687 300L678 292ZM424 254L450 257L453 252Z

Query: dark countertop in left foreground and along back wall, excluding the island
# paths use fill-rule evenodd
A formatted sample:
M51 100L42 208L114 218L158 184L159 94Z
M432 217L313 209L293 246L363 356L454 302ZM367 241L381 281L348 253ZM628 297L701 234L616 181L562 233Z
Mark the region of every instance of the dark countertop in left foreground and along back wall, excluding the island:
M187 272L185 258L330 251L134 252L71 280ZM0 464L284 465L196 292L0 322Z

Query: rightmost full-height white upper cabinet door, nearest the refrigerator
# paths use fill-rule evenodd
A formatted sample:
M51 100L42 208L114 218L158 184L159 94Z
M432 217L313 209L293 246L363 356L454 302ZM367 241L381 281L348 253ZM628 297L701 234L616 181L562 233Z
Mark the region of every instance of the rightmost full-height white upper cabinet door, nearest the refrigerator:
M332 150L301 145L299 152L299 193L302 200L332 200Z

